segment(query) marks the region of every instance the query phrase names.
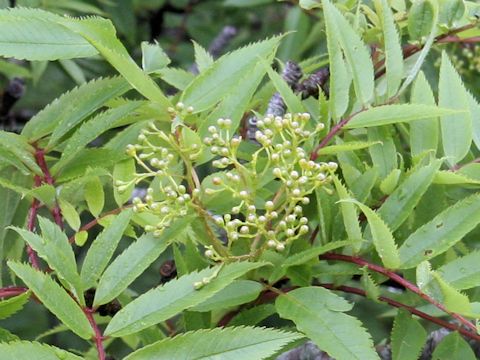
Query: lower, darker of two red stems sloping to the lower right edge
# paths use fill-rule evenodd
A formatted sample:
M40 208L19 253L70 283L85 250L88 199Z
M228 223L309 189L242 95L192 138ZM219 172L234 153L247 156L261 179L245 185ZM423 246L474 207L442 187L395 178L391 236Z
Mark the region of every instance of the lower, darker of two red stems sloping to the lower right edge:
M367 296L366 291L364 291L362 289L350 287L350 286L335 286L334 284L319 284L319 286L322 286L322 287L324 287L326 289L330 289L330 290L338 290L338 291L343 291L343 292L346 292L346 293L356 294L356 295L365 296L365 297ZM435 323L435 324L437 324L441 327L450 329L452 331L458 331L459 333L461 333L462 335L464 335L466 337L469 337L469 338L471 338L473 340L476 340L476 341L480 341L480 335L478 335L476 333L473 333L471 331L468 331L468 330L466 330L466 329L464 329L460 326L455 326L454 324L451 324L451 323L449 323L447 321L444 321L442 319L438 319L436 317L428 315L427 313L424 313L423 311L415 309L413 306L405 305L401 302L395 301L395 300L390 299L386 296L379 296L378 300L383 301L383 302L385 302L385 303L387 303L391 306L394 306L396 308L405 309L408 312L410 312L414 315L417 315L418 317L421 317L422 319L431 321L431 322L433 322L433 323Z

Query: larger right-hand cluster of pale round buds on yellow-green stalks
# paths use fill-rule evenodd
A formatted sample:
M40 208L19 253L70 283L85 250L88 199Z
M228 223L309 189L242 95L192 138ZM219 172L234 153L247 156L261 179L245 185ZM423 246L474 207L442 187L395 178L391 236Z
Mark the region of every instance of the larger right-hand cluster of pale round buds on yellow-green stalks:
M309 195L319 186L331 181L330 174L336 163L315 163L308 160L304 145L320 132L324 125L311 126L310 115L286 114L267 116L258 120L255 134L260 149L248 163L237 159L241 137L230 138L231 121L219 119L218 126L209 128L210 135L205 145L219 158L213 166L226 169L224 176L212 179L212 188L207 194L229 191L237 199L230 213L214 217L216 224L227 235L228 244L238 239L250 239L263 243L264 247L283 251L289 243L309 232L308 219L303 216L303 206L310 202ZM263 169L257 162L262 158ZM265 175L272 174L282 184L283 196L266 201L258 209L255 204L257 187ZM216 258L212 249L207 257Z

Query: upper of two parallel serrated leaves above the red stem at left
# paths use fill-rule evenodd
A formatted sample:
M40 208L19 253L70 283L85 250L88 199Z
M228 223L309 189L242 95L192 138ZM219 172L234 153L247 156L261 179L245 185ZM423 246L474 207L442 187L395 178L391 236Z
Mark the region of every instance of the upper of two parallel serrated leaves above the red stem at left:
M53 147L61 137L108 100L129 89L121 77L92 80L64 93L32 117L22 130L30 141L52 133L48 147Z

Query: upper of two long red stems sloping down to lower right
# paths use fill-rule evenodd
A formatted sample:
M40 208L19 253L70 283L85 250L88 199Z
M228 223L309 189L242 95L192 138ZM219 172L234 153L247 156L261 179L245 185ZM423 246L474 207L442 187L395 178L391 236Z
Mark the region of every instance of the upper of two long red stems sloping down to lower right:
M445 308L445 306L443 306L437 300L431 298L430 296L425 294L422 290L420 290L416 285L414 285L411 282L405 280L402 276L396 274L393 271L387 270L384 267L381 267L379 265L369 263L368 261L363 260L359 257L349 256L349 255L327 253L327 254L320 255L320 259L322 259L322 260L345 261L345 262L357 264L357 265L362 266L362 267L366 266L368 269L370 269L372 271L375 271L379 274L385 275L388 278L395 281L397 284L400 284L400 285L404 286L406 289L408 289L411 292L417 294L418 296L420 296L425 301L429 302L430 304L436 306L437 308L439 308L443 312L445 312L445 313L449 314L450 316L452 316L453 318L457 319L460 323L465 325L467 328L472 329L474 332L477 331L476 326L474 324L472 324L470 321L468 321L463 316L461 316L457 313L454 313L454 312L451 312L451 311L447 310L447 308Z

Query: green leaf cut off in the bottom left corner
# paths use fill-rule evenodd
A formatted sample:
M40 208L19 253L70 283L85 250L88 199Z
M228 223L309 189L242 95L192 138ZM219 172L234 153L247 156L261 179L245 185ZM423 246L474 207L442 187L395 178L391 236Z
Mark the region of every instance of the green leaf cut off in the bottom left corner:
M12 341L0 343L0 354L5 359L15 360L81 360L80 356L74 355L55 346L28 341Z

